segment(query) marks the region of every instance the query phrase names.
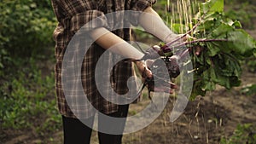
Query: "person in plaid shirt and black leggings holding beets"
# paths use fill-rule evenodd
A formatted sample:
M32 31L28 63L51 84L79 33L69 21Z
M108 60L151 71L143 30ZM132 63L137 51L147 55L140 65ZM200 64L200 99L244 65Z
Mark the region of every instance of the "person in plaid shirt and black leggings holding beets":
M136 65L138 69L143 72L146 77L151 78L152 73L145 66L142 59L148 58L142 52L135 49L125 41L130 40L130 29L123 28L114 31L109 31L109 27L115 24L125 25L125 17L120 14L113 14L112 18L106 17L105 14L133 10L143 13L132 13L129 20L133 26L143 26L143 28L152 33L155 37L160 38L164 42L169 42L172 38L177 37L160 19L160 16L152 9L152 4L155 0L51 0L55 16L58 20L58 26L55 28L55 87L58 108L63 119L64 143L90 143L91 125L96 108L97 111L102 112L111 117L125 118L127 116L129 104L119 105L102 98L102 95L96 89L95 82L95 68L99 57L104 53L105 49L110 49L114 54L122 55L131 60L137 60ZM95 43L90 45L90 49L84 56L81 79L83 89L93 107L84 106L84 111L81 113L74 112L68 105L67 95L64 95L63 81L61 81L63 58L67 51L68 43L73 36L79 32L79 29L86 25L91 20L99 18L98 22L93 25L90 31L90 37L95 40ZM111 20L109 20L111 19ZM103 33L103 34L102 34ZM118 46L119 43L122 46ZM151 50L152 52L152 50ZM153 50L154 53L154 50ZM151 54L150 54L151 55ZM154 54L155 55L155 54ZM157 53L156 53L157 55ZM150 57L150 56L149 56ZM126 82L133 74L131 62L120 61L113 68L112 83L113 89L120 95L127 92ZM72 99L76 99L73 95L68 95ZM83 119L91 124L84 125L80 122L78 115L82 115ZM125 121L120 124L114 124L119 130L124 130ZM101 127L101 119L99 118L99 126ZM102 125L104 127L104 125ZM98 132L99 141L101 144L120 144L122 134L113 135Z

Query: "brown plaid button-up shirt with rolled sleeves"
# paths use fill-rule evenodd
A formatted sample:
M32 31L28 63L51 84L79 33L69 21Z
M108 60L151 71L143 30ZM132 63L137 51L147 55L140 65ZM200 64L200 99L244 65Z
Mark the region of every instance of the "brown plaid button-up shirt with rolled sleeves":
M65 93L62 81L64 81L61 76L61 66L63 63L63 57L67 49L68 43L71 41L72 37L79 29L88 23L90 20L101 16L101 20L97 21L96 27L111 27L114 24L119 23L124 24L123 20L118 18L113 18L113 20L105 20L104 14L108 14L120 10L135 10L143 11L148 6L155 3L155 0L99 0L99 1L89 1L89 0L51 0L55 16L58 20L58 25L55 28L54 38L55 38L55 88L57 95L57 103L59 111L62 115L71 118L89 118L93 116L95 107L98 111L103 113L116 112L118 105L110 101L105 100L100 95L95 81L95 68L99 57L104 53L104 49L98 46L96 43L90 45L90 49L84 56L84 60L81 67L81 81L83 85L84 93L87 95L88 100L90 100L91 105L85 106L70 106L67 105L67 99L65 95L72 98L72 101L79 101L79 97L73 96L76 93L75 90L71 90L71 93ZM138 15L134 15L137 16ZM104 19L105 18L105 19ZM132 25L137 25L137 21L131 21ZM130 29L120 29L113 31L114 34L123 38L125 41L130 40ZM106 65L110 66L111 60L106 60ZM133 69L131 62L119 62L113 67L111 73L112 88L118 94L125 94L128 90L126 83L128 78L133 75ZM110 92L106 89L106 94ZM69 95L70 94L70 95ZM73 105L79 105L79 103L74 103ZM83 104L82 104L83 105ZM93 106L93 107L92 107ZM72 107L72 108L70 108Z

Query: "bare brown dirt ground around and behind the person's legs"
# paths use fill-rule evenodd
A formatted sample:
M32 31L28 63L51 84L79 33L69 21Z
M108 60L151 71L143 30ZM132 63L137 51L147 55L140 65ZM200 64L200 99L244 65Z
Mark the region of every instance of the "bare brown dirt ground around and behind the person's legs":
M248 31L256 38L256 31ZM174 122L169 122L173 98L168 101L166 109L154 123L136 133L124 135L124 144L217 144L221 138L227 138L237 124L256 122L256 94L243 95L241 88L247 84L256 84L256 74L245 71L241 77L242 84L234 89L218 87L205 97L198 96L189 101L183 114ZM130 111L142 109L147 104L132 105ZM12 134L12 131L7 132ZM56 131L46 139L33 138L32 132L15 132L3 144L17 143L62 143L62 132ZM96 132L93 132L92 144L97 144Z

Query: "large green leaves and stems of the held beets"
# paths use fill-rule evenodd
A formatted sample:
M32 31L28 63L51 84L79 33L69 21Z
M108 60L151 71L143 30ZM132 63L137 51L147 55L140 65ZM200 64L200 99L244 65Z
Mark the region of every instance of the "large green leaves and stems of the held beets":
M195 68L185 72L194 71L191 98L206 95L207 91L216 88L216 84L226 89L239 86L242 71L240 60L256 54L256 41L242 29L239 21L231 20L224 14L223 0L201 3L199 13L193 20L189 20L186 15L184 14L181 23L173 24L172 29L178 33L187 32L162 46L159 54L164 54L169 59L178 54L177 61L181 61L190 52L191 60L183 60L183 63L190 62ZM191 38L187 43L177 44L186 34L196 39ZM197 53L197 50L201 53Z

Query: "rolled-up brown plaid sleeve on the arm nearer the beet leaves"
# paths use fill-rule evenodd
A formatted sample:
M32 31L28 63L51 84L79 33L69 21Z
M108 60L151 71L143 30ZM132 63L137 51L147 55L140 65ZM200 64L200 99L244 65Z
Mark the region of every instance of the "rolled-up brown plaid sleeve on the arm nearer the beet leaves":
M154 3L156 3L156 0L131 0L131 25L137 26L139 24L139 16L143 12L144 9L147 9L148 7L151 7Z

